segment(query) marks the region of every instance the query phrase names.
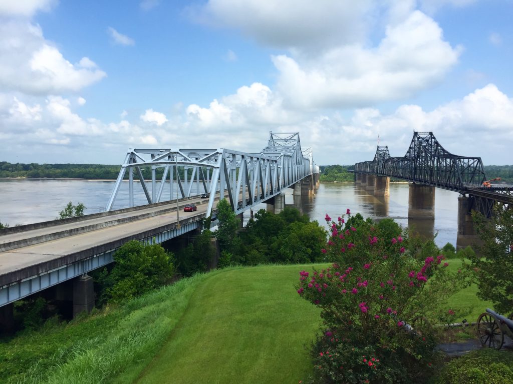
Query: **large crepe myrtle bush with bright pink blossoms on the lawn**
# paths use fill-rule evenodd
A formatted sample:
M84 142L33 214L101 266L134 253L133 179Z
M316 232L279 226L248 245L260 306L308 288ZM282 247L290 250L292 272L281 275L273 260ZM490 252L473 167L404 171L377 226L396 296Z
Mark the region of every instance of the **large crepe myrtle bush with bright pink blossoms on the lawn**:
M432 241L359 214L332 220L328 268L301 271L298 294L321 309L312 382L423 382L437 359L430 324L460 315L445 307L468 284ZM427 371L426 371L427 370Z

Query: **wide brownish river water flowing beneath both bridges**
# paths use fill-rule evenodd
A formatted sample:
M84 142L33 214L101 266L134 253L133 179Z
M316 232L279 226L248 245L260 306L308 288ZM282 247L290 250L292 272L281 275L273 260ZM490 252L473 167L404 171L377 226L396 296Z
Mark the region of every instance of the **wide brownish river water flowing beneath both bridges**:
M83 203L86 214L103 212L109 200L113 180L76 179L0 179L0 222L24 225L53 220L69 201ZM135 204L144 204L142 188L134 188ZM292 189L286 191L286 204L293 204ZM337 217L349 208L364 217L390 217L401 226L415 227L425 236L437 234L436 243L456 246L458 233L458 193L436 188L435 220L408 220L408 184L391 183L390 196L375 197L353 183L321 183L314 196L302 199L303 212L324 225L328 213ZM128 183L125 181L114 208L128 207ZM256 209L265 208L261 205ZM249 215L245 214L247 220Z

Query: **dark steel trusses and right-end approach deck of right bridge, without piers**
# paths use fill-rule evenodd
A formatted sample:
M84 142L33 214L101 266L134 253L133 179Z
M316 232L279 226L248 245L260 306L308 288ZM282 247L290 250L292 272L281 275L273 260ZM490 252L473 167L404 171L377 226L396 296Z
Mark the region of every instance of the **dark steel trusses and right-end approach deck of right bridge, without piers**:
M432 132L415 132L404 156L390 156L387 146L378 146L371 161L354 165L354 173L395 177L468 194L472 201L471 209L487 216L496 201L511 203L509 188L483 186L487 178L481 157L448 152Z

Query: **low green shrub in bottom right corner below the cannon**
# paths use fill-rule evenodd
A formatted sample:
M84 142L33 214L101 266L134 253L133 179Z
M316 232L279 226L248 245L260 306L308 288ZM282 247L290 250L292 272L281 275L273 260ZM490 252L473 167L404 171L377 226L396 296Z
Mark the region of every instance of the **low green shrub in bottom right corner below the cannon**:
M505 384L513 382L513 354L484 348L449 361L433 384Z

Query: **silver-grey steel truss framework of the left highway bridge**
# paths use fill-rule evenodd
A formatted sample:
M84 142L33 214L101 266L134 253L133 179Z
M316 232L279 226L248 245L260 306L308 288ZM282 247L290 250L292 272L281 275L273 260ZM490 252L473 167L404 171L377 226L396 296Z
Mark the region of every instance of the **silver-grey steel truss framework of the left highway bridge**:
M151 180L145 180L144 168L151 170ZM260 153L224 148L130 149L106 210L113 209L126 174L130 207L134 206L136 177L148 204L205 194L209 198L208 217L221 191L238 214L314 173L319 173L319 167L311 148L301 149L299 133L270 132L267 146Z

